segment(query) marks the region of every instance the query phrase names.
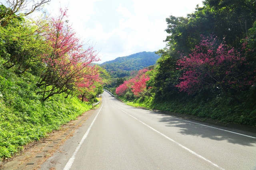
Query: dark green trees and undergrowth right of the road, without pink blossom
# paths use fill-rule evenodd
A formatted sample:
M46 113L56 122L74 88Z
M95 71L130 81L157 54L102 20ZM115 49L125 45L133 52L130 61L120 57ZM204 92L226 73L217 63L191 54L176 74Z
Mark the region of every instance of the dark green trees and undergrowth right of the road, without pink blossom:
M165 40L167 46L157 52L161 57L157 61L156 68L147 72L150 75L147 87L151 90L153 97L142 96L127 99L125 95L121 95L119 98L125 101L132 100L132 102L128 102L131 106L142 106L149 109L212 118L223 122L256 126L256 55L254 52L256 48L256 4L254 0L205 0L203 3L203 7L197 6L196 11L188 14L187 17L170 16L166 18L167 29L165 31L169 33ZM184 82L185 76L196 78L200 75L200 72L197 75L189 75L189 73L193 73L194 68L197 68L195 67L196 63L199 61L203 63L205 62L204 59L209 59L202 57L209 51L204 53L203 46L198 48L203 36L216 37L216 44L214 44L216 48L213 48L210 53L218 52L217 47L220 47L221 44L227 45L227 49L225 49L227 52L222 54L222 62L230 61L225 58L231 54L228 48L237 51L237 56L241 57L241 61L237 62L236 66L234 65L237 67L237 76L234 76L233 82L223 81L210 84L201 81L206 85L200 84L200 88L193 93L190 92L189 95L182 91L178 84ZM204 39L204 43L206 42L208 39ZM200 52L196 53L194 50L196 48L201 51L198 50ZM198 58L195 57L196 55ZM184 59L184 56L187 58ZM194 58L192 58L193 56ZM242 60L246 61L246 64L242 65ZM180 61L189 61L191 65L186 70L184 64L179 64ZM225 71L227 64L225 62L223 66L220 63L210 63L208 68L215 66L216 70L219 70L219 74L230 75L231 71L228 69ZM220 68L218 69L218 67ZM204 70L202 78L211 75L207 71L212 70L207 70L208 68ZM198 70L200 69L198 68ZM239 72L243 69L247 73ZM233 73L235 72L232 71ZM247 78L238 80L238 76L241 75ZM194 81L194 83L198 82L198 79ZM235 84L236 87L223 90L221 88L222 83L230 86ZM241 84L238 85L238 83Z

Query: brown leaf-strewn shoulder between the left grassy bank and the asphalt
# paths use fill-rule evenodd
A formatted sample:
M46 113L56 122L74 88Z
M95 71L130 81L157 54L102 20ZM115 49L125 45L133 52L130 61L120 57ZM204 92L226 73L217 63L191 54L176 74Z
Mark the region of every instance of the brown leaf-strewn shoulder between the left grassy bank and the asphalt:
M94 107L94 109L86 111L82 115L78 116L76 120L62 125L59 130L52 131L47 135L47 137L40 139L40 141L34 141L27 144L24 146L24 150L22 150L18 155L1 162L2 164L0 165L0 169L37 170L40 168L40 165L42 165L54 153L61 152L59 148L65 141L74 135L76 129L80 128L82 124L98 110L100 105L101 102L98 106Z

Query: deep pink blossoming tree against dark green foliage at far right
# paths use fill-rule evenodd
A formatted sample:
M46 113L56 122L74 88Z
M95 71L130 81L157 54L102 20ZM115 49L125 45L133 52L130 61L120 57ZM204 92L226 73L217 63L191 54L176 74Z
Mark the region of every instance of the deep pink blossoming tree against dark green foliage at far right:
M226 96L238 100L228 93L228 89L242 90L256 81L255 68L251 71L243 54L246 43L240 52L224 44L215 46L216 38L202 37L201 43L188 57L181 56L177 64L184 73L177 87L180 91L193 94L215 86L222 89Z

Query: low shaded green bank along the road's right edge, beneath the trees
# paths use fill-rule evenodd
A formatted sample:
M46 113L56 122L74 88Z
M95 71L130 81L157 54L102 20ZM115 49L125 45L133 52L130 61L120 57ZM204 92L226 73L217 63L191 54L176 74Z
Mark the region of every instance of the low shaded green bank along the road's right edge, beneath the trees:
M255 90L252 91L255 93ZM255 94L252 94L255 96ZM232 98L222 96L214 99L202 99L202 96L195 97L175 96L168 100L156 100L152 97L141 97L135 100L126 100L118 96L127 105L134 107L146 107L148 109L158 109L194 115L203 118L211 118L221 122L238 123L256 126L256 101L252 98L242 98L238 103Z

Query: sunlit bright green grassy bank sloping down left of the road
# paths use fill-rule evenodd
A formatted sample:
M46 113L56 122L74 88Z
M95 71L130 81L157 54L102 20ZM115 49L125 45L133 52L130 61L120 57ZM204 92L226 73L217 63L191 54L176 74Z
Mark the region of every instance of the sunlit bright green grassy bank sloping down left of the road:
M9 158L27 143L76 119L92 108L76 97L64 94L41 102L35 86L36 76L25 72L17 76L0 64L0 158Z

